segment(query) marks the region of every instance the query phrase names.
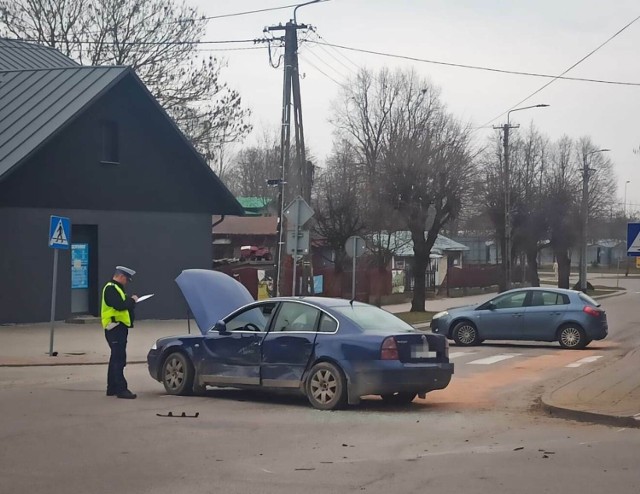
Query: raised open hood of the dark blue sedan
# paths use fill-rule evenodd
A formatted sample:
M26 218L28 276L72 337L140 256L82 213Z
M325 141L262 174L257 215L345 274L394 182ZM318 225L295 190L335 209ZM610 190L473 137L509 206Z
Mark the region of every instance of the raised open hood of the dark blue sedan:
M176 278L202 334L236 309L255 302L231 276L208 269L185 269Z

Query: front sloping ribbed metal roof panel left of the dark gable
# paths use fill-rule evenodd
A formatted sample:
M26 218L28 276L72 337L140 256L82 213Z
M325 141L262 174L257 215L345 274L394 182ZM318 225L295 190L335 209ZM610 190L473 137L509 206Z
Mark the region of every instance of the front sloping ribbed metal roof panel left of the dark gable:
M0 72L0 181L131 69Z

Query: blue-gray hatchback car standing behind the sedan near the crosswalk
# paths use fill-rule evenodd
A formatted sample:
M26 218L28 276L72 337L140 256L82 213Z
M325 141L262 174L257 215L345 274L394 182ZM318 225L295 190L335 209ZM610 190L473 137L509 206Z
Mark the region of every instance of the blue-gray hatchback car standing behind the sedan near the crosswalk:
M557 341L581 349L608 334L607 315L588 295L560 288L518 288L480 305L433 316L431 330L458 345L484 340Z

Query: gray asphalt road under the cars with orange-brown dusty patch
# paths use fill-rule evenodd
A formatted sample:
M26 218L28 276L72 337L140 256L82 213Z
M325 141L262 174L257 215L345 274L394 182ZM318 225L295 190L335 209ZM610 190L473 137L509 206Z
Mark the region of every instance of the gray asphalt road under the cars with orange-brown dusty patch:
M371 399L320 412L237 390L172 397L143 365L127 368L140 394L127 401L104 395L103 365L2 368L0 492L637 494L640 430L535 406L549 383L638 345L640 280L624 282L626 295L603 301L604 342L452 345L452 384L406 408ZM199 416L157 415L168 412Z

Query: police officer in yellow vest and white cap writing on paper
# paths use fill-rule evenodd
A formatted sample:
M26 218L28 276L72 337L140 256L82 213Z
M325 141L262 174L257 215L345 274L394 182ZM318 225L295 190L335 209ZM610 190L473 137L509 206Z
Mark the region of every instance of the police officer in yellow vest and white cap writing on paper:
M127 365L127 336L133 327L137 295L128 297L127 283L136 272L125 266L116 266L113 279L102 289L101 319L104 335L111 349L107 373L107 396L132 400L137 395L129 391L124 378Z

